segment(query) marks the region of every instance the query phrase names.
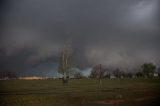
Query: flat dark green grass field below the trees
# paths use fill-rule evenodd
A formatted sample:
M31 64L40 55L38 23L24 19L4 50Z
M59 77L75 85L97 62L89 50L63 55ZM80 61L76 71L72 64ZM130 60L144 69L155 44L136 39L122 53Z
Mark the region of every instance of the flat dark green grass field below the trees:
M5 80L0 106L157 106L160 79ZM160 106L160 104L159 104Z

